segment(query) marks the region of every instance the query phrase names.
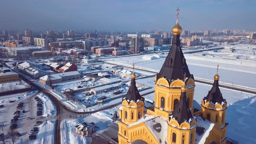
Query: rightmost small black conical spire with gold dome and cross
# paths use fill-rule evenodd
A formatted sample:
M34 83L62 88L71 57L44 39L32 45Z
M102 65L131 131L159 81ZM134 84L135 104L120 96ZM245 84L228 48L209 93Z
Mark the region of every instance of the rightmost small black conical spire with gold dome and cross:
M208 92L208 95L203 98L203 100L210 101L213 104L215 104L216 102L221 104L222 102L226 101L223 99L222 93L220 92L220 88L219 88L220 76L218 75L218 69L219 69L219 65L217 68L217 74L214 76L213 87Z

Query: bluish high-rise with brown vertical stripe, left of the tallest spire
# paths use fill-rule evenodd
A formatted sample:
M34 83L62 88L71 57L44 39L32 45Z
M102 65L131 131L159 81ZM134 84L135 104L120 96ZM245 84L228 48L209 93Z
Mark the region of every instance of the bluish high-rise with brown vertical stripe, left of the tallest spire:
M131 53L139 53L144 51L144 41L142 37L133 37L131 38Z

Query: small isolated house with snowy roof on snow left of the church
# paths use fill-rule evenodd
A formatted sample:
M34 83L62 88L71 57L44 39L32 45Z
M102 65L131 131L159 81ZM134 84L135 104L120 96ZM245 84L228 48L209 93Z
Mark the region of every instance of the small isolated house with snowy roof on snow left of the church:
M81 135L88 135L94 132L94 123L79 123L75 125L75 132Z

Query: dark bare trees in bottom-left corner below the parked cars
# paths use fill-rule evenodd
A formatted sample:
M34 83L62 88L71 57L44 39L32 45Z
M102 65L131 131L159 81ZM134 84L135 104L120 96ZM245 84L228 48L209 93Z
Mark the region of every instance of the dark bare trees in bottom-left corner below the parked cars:
M20 140L20 133L14 129L10 128L7 131L7 134L0 135L0 144L14 144L15 142Z

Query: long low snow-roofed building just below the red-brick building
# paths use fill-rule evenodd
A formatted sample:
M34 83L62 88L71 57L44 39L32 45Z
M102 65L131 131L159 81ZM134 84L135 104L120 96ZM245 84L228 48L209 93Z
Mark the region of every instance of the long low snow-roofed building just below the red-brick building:
M80 73L78 71L73 71L73 72L63 72L63 73L56 73L53 75L45 75L40 79L40 82L42 84L54 84L58 82L64 82L68 80L73 80L73 79L80 79Z

